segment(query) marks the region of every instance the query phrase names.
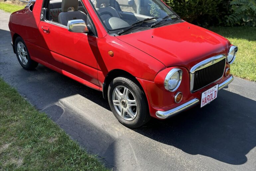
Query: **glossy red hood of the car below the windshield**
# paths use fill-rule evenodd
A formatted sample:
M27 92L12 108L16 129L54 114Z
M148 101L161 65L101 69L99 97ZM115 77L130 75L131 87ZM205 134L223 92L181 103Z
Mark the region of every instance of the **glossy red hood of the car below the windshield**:
M166 67L191 69L198 62L226 54L230 42L187 22L116 37L161 61Z

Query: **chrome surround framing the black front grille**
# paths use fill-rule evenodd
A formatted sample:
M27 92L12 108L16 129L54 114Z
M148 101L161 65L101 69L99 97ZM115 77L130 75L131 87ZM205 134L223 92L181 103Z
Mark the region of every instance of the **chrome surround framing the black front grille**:
M216 63L218 63L218 62L220 62L220 61L222 61L224 59L225 59L225 65L226 65L226 55L220 54L220 55L213 56L213 57L210 57L208 59L205 59L205 60L197 63L196 65L194 65L191 68L191 70L190 70L190 91L191 91L191 93L194 93L194 92L196 92L196 91L198 91L198 90L200 90L200 89L202 89L202 88L212 84L213 82L218 81L219 79L221 79L223 77L224 71L225 71L225 66L223 67L223 73L222 73L220 78L218 78L217 80L214 80L213 82L209 83L208 85L206 85L204 87L201 87L201 88L199 88L197 90L193 90L194 89L195 72L199 71L201 69L207 68L207 67L209 67L211 65L214 65L214 64L216 64Z

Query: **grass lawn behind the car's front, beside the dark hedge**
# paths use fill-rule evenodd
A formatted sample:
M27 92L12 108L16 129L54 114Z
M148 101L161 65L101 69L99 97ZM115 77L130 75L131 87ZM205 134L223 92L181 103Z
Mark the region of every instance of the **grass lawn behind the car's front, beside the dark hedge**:
M209 30L238 46L236 60L231 65L232 74L256 81L256 27L211 27Z

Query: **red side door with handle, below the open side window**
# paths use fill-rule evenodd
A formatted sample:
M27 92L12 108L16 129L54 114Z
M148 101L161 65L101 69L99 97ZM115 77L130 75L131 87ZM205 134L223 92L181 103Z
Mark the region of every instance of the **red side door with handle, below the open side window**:
M86 12L85 9L83 11ZM47 19L41 20L39 30L46 45L44 48L51 54L46 59L49 64L94 85L99 85L96 59L97 37L93 33L69 32L67 26Z

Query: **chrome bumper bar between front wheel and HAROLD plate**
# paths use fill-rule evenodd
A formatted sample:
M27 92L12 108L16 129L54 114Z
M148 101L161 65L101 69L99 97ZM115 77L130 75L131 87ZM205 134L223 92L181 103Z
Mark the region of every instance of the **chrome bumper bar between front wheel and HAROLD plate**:
M178 114L178 113L181 113L193 106L195 106L197 103L199 103L199 99L193 99L187 103L184 103L183 105L181 106L178 106L174 109L171 109L169 111L157 111L156 112L156 116L160 119L166 119L168 117L171 117L175 114Z

